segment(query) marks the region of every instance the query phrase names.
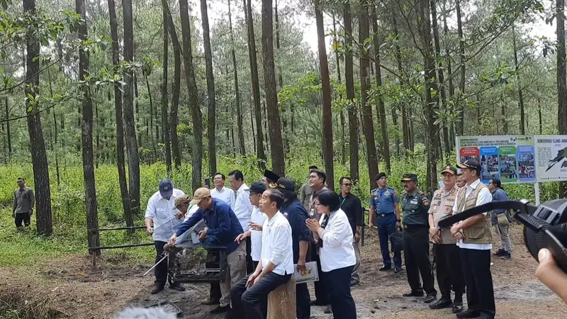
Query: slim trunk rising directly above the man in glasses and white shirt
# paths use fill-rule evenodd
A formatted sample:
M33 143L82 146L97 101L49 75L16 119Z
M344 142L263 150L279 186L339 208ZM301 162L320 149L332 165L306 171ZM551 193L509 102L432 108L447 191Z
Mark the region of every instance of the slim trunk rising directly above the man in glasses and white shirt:
M230 1L229 1L230 6ZM229 10L230 11L230 10ZM210 32L208 27L208 9L207 0L201 0L201 22L203 25L203 45L205 47L205 67L207 72L207 137L208 137L208 173L210 177L217 172L217 152L216 152L216 94L215 94L215 78L213 75L213 55L210 52ZM231 21L232 25L232 21ZM231 26L232 30L232 26ZM232 36L232 32L230 33ZM232 38L231 38L232 40ZM234 45L234 43L232 43ZM234 46L232 47L234 52ZM235 69L236 72L236 69Z

